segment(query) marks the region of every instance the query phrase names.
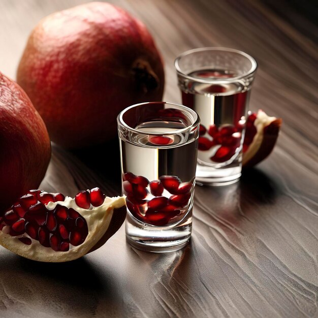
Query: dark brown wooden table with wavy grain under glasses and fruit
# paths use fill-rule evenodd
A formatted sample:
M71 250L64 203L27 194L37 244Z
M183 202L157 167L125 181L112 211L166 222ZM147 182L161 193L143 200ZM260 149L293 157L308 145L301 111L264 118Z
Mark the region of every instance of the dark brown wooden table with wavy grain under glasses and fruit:
M0 70L15 70L31 28L78 0L1 0ZM250 109L283 118L278 144L225 187L196 187L193 236L183 250L147 253L121 227L102 248L66 264L1 249L4 317L317 317L317 11L287 0L113 0L142 19L165 59L165 100L180 102L174 58L195 47L233 47L259 62ZM98 154L53 146L41 187L117 195ZM118 169L117 169L118 168ZM117 169L117 170L116 170Z

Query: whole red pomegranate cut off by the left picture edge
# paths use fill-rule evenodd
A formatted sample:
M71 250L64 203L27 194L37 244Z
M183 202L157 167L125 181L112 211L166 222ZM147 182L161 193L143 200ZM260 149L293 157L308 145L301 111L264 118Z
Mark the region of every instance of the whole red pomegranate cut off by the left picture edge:
M50 157L42 118L23 89L0 72L0 212L39 186Z

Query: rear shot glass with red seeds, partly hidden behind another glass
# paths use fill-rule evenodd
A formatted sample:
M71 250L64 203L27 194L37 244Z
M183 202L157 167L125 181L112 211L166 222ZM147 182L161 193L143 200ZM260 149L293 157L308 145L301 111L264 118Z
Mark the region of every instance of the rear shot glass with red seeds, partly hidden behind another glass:
M238 50L207 47L181 54L175 69L182 104L201 119L197 182L225 185L238 181L257 62Z

